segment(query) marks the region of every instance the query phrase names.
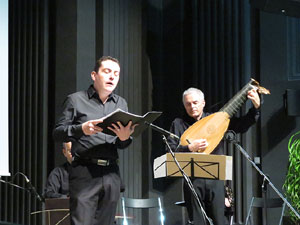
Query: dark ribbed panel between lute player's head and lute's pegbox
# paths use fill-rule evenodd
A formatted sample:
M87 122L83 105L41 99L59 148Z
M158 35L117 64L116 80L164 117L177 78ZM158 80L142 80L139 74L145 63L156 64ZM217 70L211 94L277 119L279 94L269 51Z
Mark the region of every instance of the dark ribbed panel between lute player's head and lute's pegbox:
M245 48L243 41L244 1L200 1L198 5L198 33L193 32L199 41L198 59L194 65L193 83L187 86L200 88L206 96L206 110L217 111L231 99L250 78L243 66ZM197 20L196 17L194 20ZM250 43L247 43L250 44ZM247 62L250 63L250 62ZM236 202L235 220L242 222L243 215L243 157L231 149L234 157L234 180L232 189Z

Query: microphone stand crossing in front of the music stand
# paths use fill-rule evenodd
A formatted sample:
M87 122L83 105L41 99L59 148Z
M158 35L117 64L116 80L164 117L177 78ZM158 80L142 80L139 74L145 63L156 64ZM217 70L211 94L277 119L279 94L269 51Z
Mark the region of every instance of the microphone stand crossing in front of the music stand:
M167 131L167 130L165 130L165 129L162 129L161 127L158 127L158 126L156 126L156 125L154 125L154 124L152 124L152 123L149 123L149 122L146 121L145 124L148 125L149 127L151 127L153 130L156 130L156 131L158 131L158 132L160 132L160 133L163 134L163 135L162 135L162 138L163 138L163 141L165 142L165 144L166 144L166 146L167 146L168 152L169 152L169 153L171 154L171 156L173 157L173 160L174 160L176 166L178 167L179 171L181 172L182 177L184 178L186 184L187 184L188 187L190 188L190 191L191 191L193 197L196 199L196 201L197 201L197 203L198 203L198 206L199 206L200 209L201 209L201 213L202 213L202 216L203 216L203 218L204 218L204 221L205 221L205 219L206 219L206 220L209 222L209 225L213 225L212 219L209 218L209 217L207 216L207 214L206 214L206 212L205 212L205 210L204 210L204 208L203 208L203 206L202 206L202 204L201 204L201 201L200 201L200 199L199 199L199 196L197 195L197 193L196 193L196 191L195 191L195 188L194 188L194 186L193 186L193 183L192 183L190 177L189 177L189 176L184 172L184 170L181 168L181 166L180 166L178 160L176 159L175 153L172 151L172 149L171 149L171 147L170 147L170 145L169 145L169 143L168 143L167 138L166 138L165 135L170 136L171 138L176 139L176 140L180 140L180 138L179 138L177 135L175 135L175 134L173 134L173 133L171 133L171 132L169 132L169 131Z

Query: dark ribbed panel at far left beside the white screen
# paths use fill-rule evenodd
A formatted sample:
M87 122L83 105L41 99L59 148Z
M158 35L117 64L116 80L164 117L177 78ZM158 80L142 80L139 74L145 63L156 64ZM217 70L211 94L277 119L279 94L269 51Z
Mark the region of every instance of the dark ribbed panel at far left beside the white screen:
M43 1L10 1L9 5L9 138L10 172L7 180L28 188L24 173L41 193L43 186L45 121L45 8ZM35 196L1 184L0 220L41 224L41 209Z

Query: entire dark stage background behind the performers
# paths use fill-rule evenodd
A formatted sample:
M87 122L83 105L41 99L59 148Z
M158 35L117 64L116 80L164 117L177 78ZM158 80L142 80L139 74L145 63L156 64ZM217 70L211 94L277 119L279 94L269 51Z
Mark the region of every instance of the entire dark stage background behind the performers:
M288 139L299 130L289 116L287 89L300 89L299 4L248 0L27 0L9 1L10 172L26 187L26 174L42 193L47 175L64 162L52 129L66 95L91 83L90 72L102 55L117 57L121 78L117 93L133 113L163 111L155 122L169 129L183 113L182 92L203 90L206 110L220 109L250 78L270 89L262 116L238 138L282 192ZM257 8L257 7L260 7ZM283 12L282 9L285 9ZM291 17L293 16L293 17ZM299 104L291 102L291 105ZM238 112L245 113L247 102ZM243 224L252 196L260 196L261 177L231 145L235 224ZM166 224L184 224L181 179L153 179L152 163L164 154L160 134L146 131L120 152L124 196L161 196ZM40 225L30 215L43 205L22 190L1 184L0 220ZM271 189L268 196L275 197ZM149 214L134 213L140 224ZM280 209L270 212L276 224ZM254 212L255 224L261 215Z

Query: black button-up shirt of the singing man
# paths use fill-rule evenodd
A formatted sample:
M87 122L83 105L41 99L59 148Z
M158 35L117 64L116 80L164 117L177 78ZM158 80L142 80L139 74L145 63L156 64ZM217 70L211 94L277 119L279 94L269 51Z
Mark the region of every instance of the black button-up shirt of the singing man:
M117 149L124 149L131 143L131 138L121 141L116 136L97 133L85 135L82 123L100 119L116 109L128 111L122 97L112 93L105 104L91 85L86 91L79 91L67 97L63 113L53 131L56 141L72 141L72 155L90 158L117 159Z

